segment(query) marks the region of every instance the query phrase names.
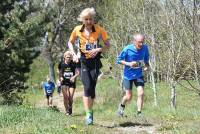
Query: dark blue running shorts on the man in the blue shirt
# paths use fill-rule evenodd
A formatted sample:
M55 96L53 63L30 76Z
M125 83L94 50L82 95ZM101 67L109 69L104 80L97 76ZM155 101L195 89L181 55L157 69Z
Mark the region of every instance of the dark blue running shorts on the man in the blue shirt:
M140 78L133 79L133 80L124 79L123 80L123 86L124 86L125 90L132 90L133 82L134 82L136 87L138 87L138 86L144 87L144 79L143 79L143 76L142 76Z

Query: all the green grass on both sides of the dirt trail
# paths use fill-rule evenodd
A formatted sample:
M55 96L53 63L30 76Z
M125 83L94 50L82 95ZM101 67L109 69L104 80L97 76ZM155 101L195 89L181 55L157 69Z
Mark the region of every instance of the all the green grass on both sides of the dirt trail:
M37 66L36 66L37 65ZM40 68L38 68L40 67ZM126 106L127 118L118 118L116 110L122 98L118 80L103 77L98 81L94 104L93 126L84 124L85 112L82 98L74 101L72 117L48 108L36 108L43 99L40 82L45 80L48 68L38 57L31 66L27 84L29 89L21 106L0 106L0 133L87 133L102 134L118 132L117 126L126 122L148 123L157 126L157 133L198 134L200 133L200 96L190 90L177 86L177 108L170 107L170 89L166 83L157 84L158 106L153 104L151 84L145 86L143 108L145 120L138 120L136 114L136 89L133 99ZM184 83L184 82L183 82ZM78 85L80 85L79 83ZM78 90L83 90L78 86Z

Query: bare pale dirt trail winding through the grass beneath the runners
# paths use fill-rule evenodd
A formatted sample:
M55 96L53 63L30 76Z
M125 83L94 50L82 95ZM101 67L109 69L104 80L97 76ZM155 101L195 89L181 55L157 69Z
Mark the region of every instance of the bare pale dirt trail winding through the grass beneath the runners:
M76 91L74 93L74 99L82 97L82 95L82 91ZM60 112L65 113L63 96L55 95L53 97L53 106L56 106ZM36 104L36 107L47 107L46 98ZM98 119L96 119L94 126L98 129L101 129L102 127L109 130L112 129L113 134L158 134L156 128L158 128L159 125L149 123L146 119L138 119L121 124L114 120L115 119L113 119L113 121L98 121Z

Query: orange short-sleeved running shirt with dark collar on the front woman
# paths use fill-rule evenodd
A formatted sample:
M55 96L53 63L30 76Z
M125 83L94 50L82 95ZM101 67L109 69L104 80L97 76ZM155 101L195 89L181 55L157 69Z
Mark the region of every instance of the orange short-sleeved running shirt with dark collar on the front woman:
M106 42L108 40L108 36L106 31L100 27L99 25L95 24L92 27L92 32L87 36L84 33L84 25L76 26L71 33L69 41L72 44L75 44L75 41L79 43L79 49L82 54L86 57L86 59L91 58L87 51L98 48L99 47L99 40L103 40Z

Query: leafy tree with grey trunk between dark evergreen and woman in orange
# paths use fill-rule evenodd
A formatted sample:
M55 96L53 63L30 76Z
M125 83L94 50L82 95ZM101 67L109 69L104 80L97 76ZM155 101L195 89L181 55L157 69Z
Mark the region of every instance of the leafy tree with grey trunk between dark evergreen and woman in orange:
M66 51L67 40L71 31L77 25L77 17L82 9L96 7L102 0L58 0L46 1L44 11L49 14L49 29L46 31L42 54L49 66L49 76L55 81L54 65ZM72 6L73 5L73 6ZM67 39L65 38L67 37Z

